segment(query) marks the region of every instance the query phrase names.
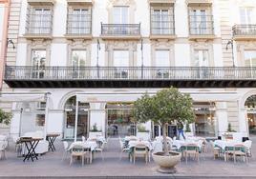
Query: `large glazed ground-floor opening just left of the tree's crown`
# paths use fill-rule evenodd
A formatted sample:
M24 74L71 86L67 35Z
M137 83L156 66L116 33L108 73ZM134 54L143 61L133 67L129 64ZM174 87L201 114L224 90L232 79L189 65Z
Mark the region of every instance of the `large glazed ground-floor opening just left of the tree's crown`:
M106 131L111 137L135 135L136 125L133 122L132 103L107 103Z

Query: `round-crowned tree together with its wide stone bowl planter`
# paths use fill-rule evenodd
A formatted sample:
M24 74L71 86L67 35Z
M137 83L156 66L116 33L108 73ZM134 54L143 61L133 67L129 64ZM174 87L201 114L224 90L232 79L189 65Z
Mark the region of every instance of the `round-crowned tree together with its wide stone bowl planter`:
M156 95L145 93L134 104L134 116L140 123L153 121L162 129L163 151L153 154L154 161L160 166L160 172L175 172L175 166L181 160L181 153L169 151L167 146L167 126L176 121L192 123L195 119L193 102L189 94L178 89L162 89Z

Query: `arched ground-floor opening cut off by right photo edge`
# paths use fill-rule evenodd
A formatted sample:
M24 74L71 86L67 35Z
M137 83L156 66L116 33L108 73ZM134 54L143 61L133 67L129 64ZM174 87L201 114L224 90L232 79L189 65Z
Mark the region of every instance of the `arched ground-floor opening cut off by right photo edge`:
M256 95L249 96L245 101L245 109L247 112L247 124L249 134L256 134Z

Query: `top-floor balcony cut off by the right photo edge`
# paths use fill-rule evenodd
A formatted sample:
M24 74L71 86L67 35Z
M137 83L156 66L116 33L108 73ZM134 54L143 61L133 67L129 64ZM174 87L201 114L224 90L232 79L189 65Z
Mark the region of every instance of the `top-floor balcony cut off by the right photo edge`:
M234 40L256 40L256 25L235 25L232 30Z

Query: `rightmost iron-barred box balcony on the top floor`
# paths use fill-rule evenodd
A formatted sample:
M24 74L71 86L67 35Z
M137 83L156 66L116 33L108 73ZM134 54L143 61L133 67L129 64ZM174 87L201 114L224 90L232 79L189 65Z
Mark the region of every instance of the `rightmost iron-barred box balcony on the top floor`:
M189 39L213 39L214 23L212 15L189 15Z

